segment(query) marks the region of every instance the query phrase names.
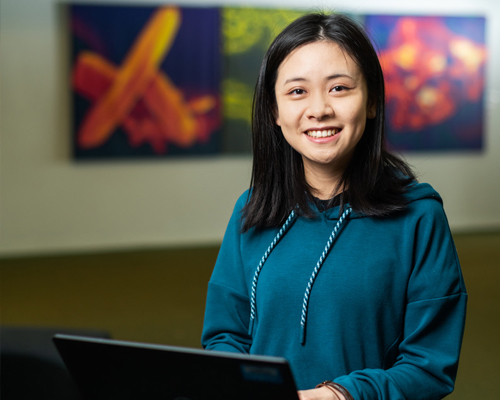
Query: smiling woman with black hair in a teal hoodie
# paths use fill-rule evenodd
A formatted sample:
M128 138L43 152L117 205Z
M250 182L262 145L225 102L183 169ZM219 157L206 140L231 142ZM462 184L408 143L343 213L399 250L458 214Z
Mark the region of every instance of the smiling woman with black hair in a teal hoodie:
M347 17L306 15L270 46L251 187L209 283L202 344L287 358L301 399L453 390L460 265L440 196L385 148L384 112L376 52Z

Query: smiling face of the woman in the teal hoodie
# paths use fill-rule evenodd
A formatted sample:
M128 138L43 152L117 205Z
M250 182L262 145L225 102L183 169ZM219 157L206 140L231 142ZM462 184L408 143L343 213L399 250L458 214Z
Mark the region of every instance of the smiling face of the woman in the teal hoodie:
M302 155L306 179L342 173L376 113L359 66L332 41L305 44L281 63L275 91L276 123Z

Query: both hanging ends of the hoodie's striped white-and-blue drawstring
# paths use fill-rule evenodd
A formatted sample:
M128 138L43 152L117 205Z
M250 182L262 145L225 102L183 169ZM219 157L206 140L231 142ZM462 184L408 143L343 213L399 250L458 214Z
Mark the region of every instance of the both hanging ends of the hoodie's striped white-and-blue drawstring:
M321 269L321 266L323 265L323 262L325 261L328 253L330 252L330 249L332 247L333 241L335 240L340 227L344 220L347 218L347 216L352 212L352 208L348 207L346 210L342 213L340 216L339 220L337 221L337 224L335 225L330 237L328 238L328 242L326 243L325 249L323 250L323 253L321 254L321 257L319 258L318 262L316 263L316 266L314 267L314 270L311 274L311 277L309 278L309 282L307 283L306 291L304 293L304 300L302 303L302 315L300 318L300 343L304 344L305 343L305 332L306 332L306 322L307 322L307 310L308 310L308 305L309 305L309 296L311 294L312 286L314 284L314 281L316 279L316 276L319 273L319 270ZM252 280L252 290L251 290L251 295L250 295L250 324L248 327L248 334L251 335L253 332L253 325L255 321L255 316L256 316L256 292L257 292L257 281L259 279L260 272L262 271L262 267L264 266L264 263L266 262L267 258L273 251L273 249L276 247L278 242L281 240L283 235L288 231L290 226L293 224L293 222L296 219L296 213L295 211L292 211L290 215L288 216L287 220L281 227L281 229L278 231L276 236L274 237L274 240L271 242L269 247L267 248L266 252L262 256L262 259L259 262L259 265L257 266L257 269L255 270L255 274Z

